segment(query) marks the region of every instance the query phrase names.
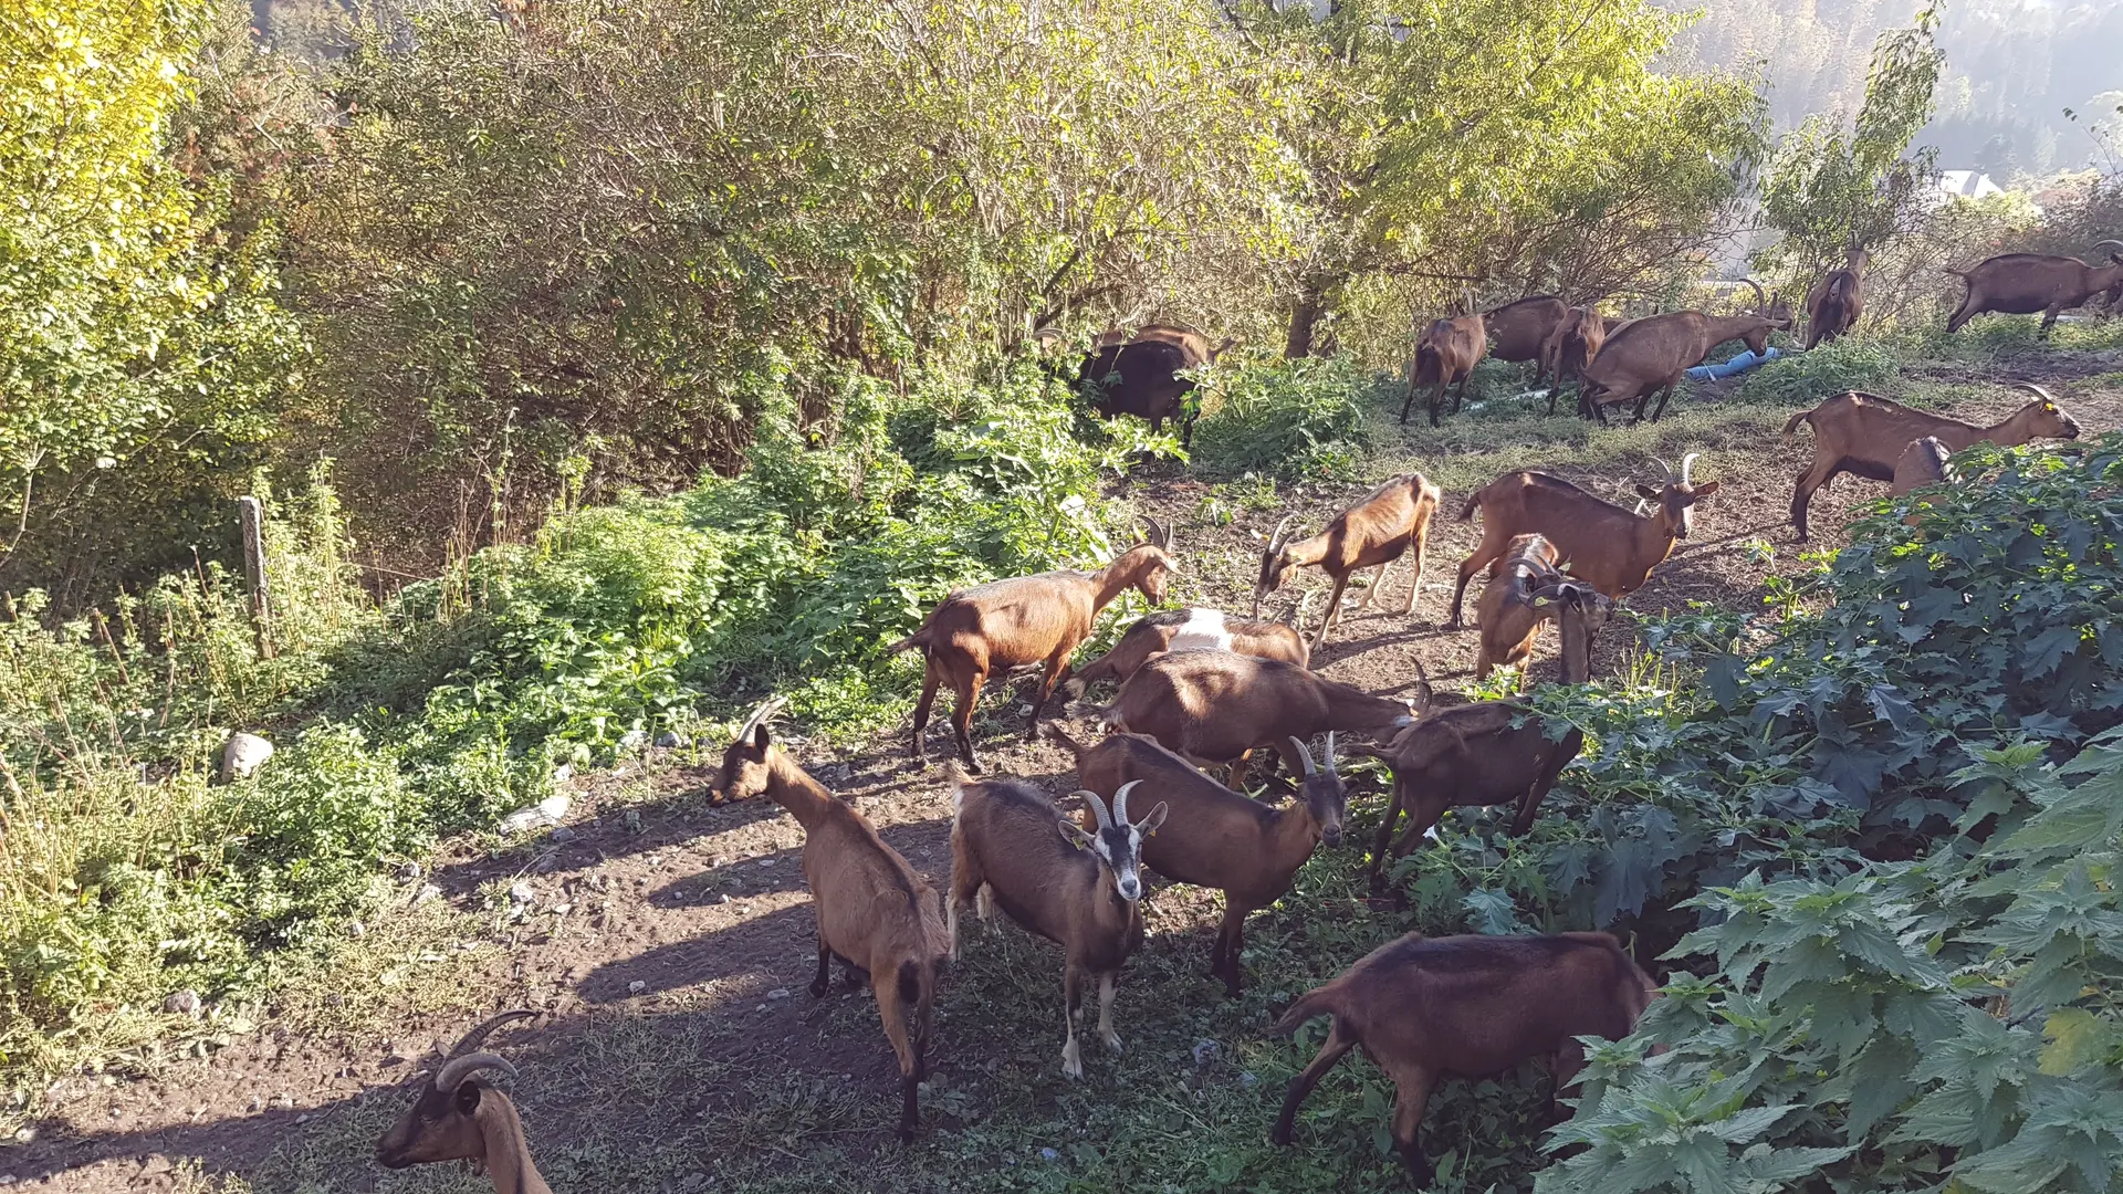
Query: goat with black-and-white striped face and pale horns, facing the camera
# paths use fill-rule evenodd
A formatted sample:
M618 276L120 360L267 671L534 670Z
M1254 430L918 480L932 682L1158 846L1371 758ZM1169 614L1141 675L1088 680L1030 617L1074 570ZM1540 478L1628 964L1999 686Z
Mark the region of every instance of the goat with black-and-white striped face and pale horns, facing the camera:
M1104 797L1076 792L1098 820L1093 833L1064 818L1045 792L1017 780L960 780L951 792L951 960L957 960L957 909L979 899L981 920L987 920L983 888L1011 920L1059 943L1068 1018L1062 1073L1068 1077L1083 1077L1076 1013L1085 979L1098 979L1098 1035L1106 1047L1121 1052L1121 1037L1112 1030L1112 979L1142 945L1138 860L1142 839L1166 822L1163 801L1151 816L1127 820L1127 792L1134 788L1136 782L1127 782L1112 792L1112 816Z

